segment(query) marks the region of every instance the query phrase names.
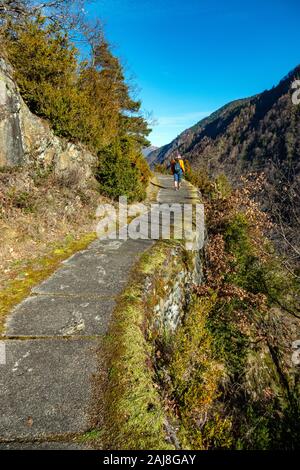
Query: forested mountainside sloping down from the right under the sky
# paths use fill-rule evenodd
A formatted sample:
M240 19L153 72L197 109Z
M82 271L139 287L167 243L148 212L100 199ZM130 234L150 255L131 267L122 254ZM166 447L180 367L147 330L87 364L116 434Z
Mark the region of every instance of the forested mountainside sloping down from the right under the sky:
M264 172L265 208L283 224L289 241L300 244L300 105L292 102L292 83L300 65L277 86L228 103L148 155L152 166L168 163L175 151L193 169L224 173L235 183L241 175ZM297 236L296 236L297 235Z

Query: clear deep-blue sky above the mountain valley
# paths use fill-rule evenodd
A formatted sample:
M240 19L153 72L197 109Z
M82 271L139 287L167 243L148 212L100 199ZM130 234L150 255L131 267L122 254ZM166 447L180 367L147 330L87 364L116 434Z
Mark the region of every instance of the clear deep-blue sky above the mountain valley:
M299 0L96 0L88 12L156 120L157 146L300 63Z

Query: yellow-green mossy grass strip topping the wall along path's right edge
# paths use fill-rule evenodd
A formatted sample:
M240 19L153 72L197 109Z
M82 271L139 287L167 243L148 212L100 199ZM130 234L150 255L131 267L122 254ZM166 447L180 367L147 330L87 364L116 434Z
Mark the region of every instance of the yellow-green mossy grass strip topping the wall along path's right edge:
M113 449L172 449L165 432L164 406L153 367L154 345L147 341L146 277L159 277L170 245L160 242L146 252L118 301L110 334L106 446Z

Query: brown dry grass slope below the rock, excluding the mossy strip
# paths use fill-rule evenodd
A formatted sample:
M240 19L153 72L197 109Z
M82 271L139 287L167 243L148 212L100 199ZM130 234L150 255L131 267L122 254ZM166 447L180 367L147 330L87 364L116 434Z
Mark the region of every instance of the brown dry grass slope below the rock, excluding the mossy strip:
M0 289L28 261L95 230L101 198L92 182L85 189L73 182L65 186L53 173L36 169L0 173Z

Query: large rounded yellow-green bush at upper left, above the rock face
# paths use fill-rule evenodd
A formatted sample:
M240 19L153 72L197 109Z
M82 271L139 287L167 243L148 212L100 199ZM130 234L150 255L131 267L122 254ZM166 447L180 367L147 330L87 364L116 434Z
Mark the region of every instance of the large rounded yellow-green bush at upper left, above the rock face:
M65 34L44 19L8 35L6 49L21 94L31 111L50 120L56 134L78 137L86 110L78 93L77 51Z

